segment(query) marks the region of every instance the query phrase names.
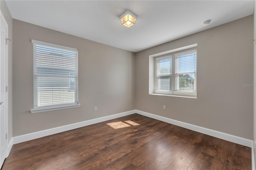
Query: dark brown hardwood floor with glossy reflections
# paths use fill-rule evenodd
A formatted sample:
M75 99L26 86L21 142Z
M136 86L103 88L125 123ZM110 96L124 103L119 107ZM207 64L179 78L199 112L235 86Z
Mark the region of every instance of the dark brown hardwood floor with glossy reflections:
M118 129L106 125L128 120L140 125ZM2 170L251 168L251 148L138 114L15 144L2 166Z

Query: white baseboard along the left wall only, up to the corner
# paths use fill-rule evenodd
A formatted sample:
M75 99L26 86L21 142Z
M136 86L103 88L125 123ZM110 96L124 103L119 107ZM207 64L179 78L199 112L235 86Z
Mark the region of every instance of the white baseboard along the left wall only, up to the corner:
M88 125L108 121L108 120L111 120L111 119L116 119L118 117L123 117L123 116L131 115L131 114L134 114L134 113L135 113L135 110L132 110L132 111L127 111L127 112L123 112L123 113L118 113L118 114L115 114L115 115L110 115L110 116L100 117L100 118L96 118L96 119L91 119L91 120L88 120L88 121L73 123L73 124L70 124L70 125L64 125L64 126L61 126L61 127L50 128L50 129L41 130L41 131L38 131L38 132L23 134L23 135L20 135L20 136L14 136L13 137L13 144L26 142L28 140L33 140L33 139L36 139L36 138L41 138L41 137L44 137L44 136L49 136L49 135L60 133L60 132L65 132L65 131L72 130L72 129L75 129L75 128L85 127L85 126L88 126Z

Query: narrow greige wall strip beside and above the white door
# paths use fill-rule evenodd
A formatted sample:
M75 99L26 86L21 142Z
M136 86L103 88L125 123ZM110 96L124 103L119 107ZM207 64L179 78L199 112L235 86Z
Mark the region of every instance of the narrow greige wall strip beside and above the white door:
M4 0L0 1L1 12L8 24L8 38L12 40L12 16ZM8 43L8 142L12 138L12 42Z

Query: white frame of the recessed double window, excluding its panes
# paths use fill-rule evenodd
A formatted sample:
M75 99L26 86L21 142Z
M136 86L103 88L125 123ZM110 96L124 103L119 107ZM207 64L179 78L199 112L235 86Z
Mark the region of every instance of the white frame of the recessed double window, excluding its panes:
M176 57L190 52L196 52L196 71L195 74L195 88L196 91L176 91ZM159 59L172 58L172 91L157 90L156 89L156 61ZM149 94L150 95L165 95L174 97L197 98L197 44L172 49L169 51L157 53L149 56Z

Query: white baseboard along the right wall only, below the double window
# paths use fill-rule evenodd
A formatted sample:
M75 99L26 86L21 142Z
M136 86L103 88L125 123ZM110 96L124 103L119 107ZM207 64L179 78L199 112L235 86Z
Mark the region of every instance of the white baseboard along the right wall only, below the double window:
M150 118L159 120L159 121L170 123L172 125L176 125L176 126L179 126L179 127L194 130L196 132L200 132L200 133L203 133L203 134L208 134L208 135L214 136L216 138L228 140L230 142L241 144L243 146L247 146L247 147L250 147L250 148L252 148L252 145L253 145L252 140L249 140L249 139L246 139L246 138L241 138L241 137L238 137L238 136L234 136L232 134L227 134L227 133L219 132L219 131L216 131L216 130L211 130L211 129L208 129L208 128L192 125L192 124L189 124L189 123L176 121L174 119L169 119L169 118L166 118L166 117L154 115L154 114L147 113L147 112L144 112L144 111L136 110L136 113L138 113L140 115L143 115L143 116L146 116L146 117L150 117Z

